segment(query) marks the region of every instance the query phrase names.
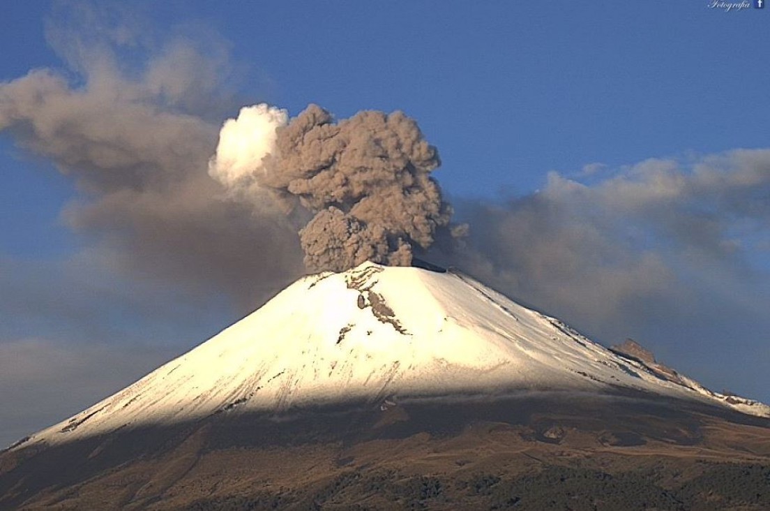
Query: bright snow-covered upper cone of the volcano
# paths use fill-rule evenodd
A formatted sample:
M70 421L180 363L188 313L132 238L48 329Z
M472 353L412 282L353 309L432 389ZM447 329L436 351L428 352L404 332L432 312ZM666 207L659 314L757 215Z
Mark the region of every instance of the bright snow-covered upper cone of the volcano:
M761 403L681 375L662 378L470 277L366 263L303 277L186 355L27 442L350 400L618 388L770 416Z

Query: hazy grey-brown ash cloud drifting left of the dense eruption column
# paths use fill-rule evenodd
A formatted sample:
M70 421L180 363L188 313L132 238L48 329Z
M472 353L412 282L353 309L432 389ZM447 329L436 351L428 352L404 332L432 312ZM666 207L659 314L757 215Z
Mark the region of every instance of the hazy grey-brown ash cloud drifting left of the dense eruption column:
M49 29L65 69L0 81L0 133L72 181L62 220L87 257L253 310L303 264L275 200L249 207L206 174L221 120L242 102L226 43L180 32L144 44L143 25L132 32L109 8L72 8Z

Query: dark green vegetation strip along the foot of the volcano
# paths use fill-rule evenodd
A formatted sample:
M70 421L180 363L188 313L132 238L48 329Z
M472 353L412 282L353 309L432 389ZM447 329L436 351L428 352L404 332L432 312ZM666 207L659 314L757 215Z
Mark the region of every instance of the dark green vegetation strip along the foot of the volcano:
M712 464L675 488L659 486L640 471L611 475L565 466L470 479L351 470L320 488L200 499L187 509L760 510L770 509L770 466Z

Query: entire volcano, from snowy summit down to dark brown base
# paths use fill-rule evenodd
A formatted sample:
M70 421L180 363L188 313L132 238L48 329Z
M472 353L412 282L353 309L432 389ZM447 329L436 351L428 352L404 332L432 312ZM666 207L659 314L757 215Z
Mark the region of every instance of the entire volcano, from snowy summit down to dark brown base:
M52 506L767 509L770 407L457 271L365 263L6 449L0 509Z

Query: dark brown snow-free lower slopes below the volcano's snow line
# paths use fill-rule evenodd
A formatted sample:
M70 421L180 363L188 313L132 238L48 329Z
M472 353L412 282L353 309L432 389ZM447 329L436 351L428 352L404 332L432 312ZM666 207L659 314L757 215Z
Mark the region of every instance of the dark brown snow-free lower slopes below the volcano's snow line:
M28 444L0 455L0 509L770 508L768 419L644 395L232 410Z

